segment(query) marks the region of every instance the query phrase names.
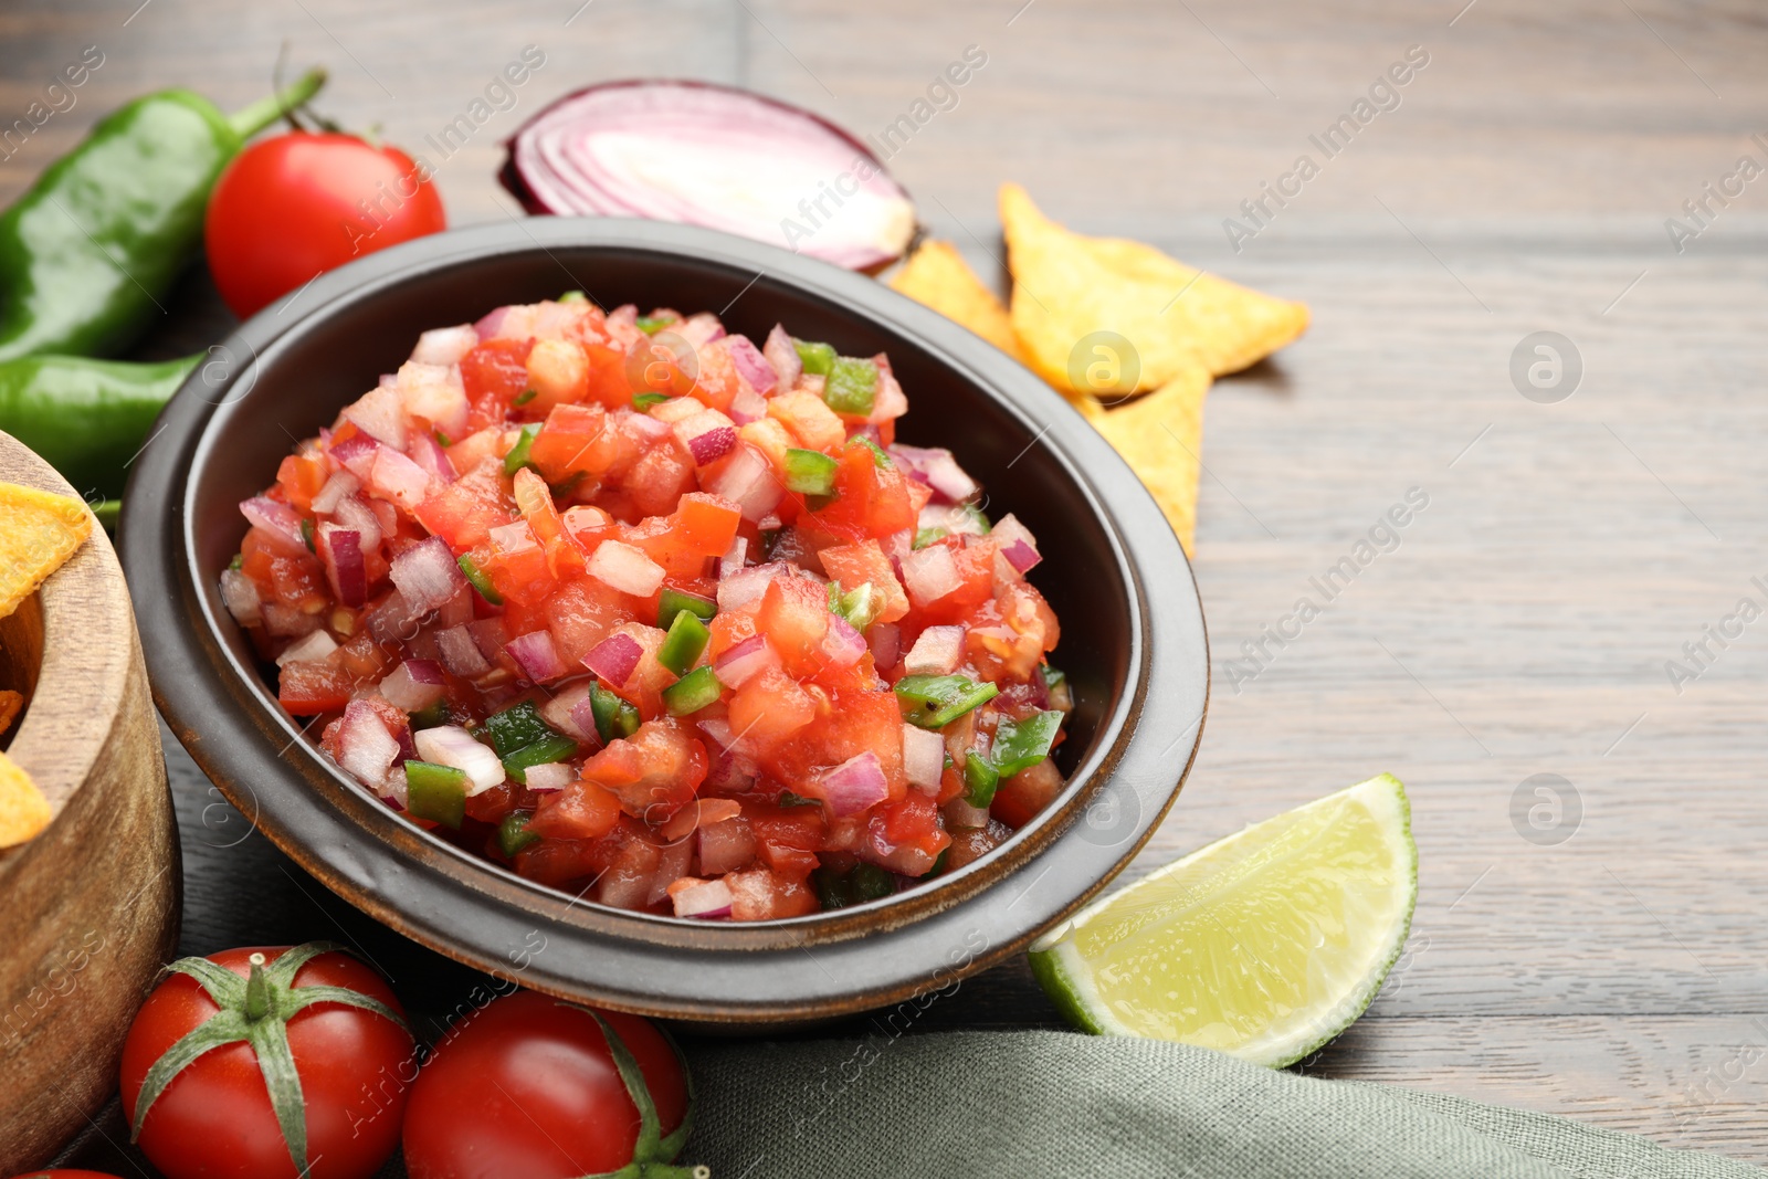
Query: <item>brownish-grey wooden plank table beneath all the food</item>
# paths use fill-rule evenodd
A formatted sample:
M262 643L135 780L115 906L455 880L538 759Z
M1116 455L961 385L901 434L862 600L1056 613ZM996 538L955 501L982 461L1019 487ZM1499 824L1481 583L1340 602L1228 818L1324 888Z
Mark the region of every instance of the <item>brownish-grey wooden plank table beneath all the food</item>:
M1752 580L1768 582L1768 179L1713 203L1681 253L1665 230L1694 228L1683 202L1740 156L1768 164L1768 140L1750 140L1768 133L1754 5L546 0L415 18L343 0L138 2L0 11L7 117L81 46L104 53L78 106L0 163L0 193L136 92L187 83L244 104L281 44L292 65L332 71L327 110L419 152L522 46L545 49L520 106L438 166L458 224L516 216L492 180L499 141L582 83L704 76L863 134L981 46L956 108L891 168L987 274L995 186L1017 179L1077 228L1158 242L1315 311L1301 343L1209 403L1197 580L1215 700L1190 785L1133 871L1393 771L1421 856L1413 942L1368 1016L1307 1069L1768 1161L1768 622L1710 645L1680 691L1665 672L1703 628L1736 631L1724 619L1741 597L1768 605ZM1398 106L1326 157L1308 136L1409 46L1429 64ZM1223 217L1299 154L1319 175L1234 253ZM196 276L149 350L225 329ZM1552 401L1568 377L1519 392L1513 354L1533 332L1572 341L1570 398ZM1397 546L1248 663L1243 643L1409 488L1429 507ZM329 896L180 749L168 757L187 951L336 935L431 1018L453 1008L465 970ZM1558 802L1536 774L1559 776ZM1013 965L918 1031L1054 1020Z

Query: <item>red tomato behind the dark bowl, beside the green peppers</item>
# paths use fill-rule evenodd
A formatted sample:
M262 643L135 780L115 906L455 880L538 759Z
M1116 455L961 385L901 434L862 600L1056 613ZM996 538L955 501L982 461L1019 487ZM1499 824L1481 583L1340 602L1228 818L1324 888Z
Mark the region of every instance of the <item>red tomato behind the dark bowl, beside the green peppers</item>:
M400 148L293 131L226 166L203 244L221 297L244 318L316 274L444 228L428 170Z

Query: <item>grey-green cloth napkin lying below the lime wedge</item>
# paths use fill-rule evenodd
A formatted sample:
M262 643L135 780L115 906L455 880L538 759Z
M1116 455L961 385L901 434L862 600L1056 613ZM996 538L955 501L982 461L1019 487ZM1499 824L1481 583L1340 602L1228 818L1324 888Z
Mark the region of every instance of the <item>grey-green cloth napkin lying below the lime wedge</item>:
M955 1032L690 1052L714 1179L1718 1179L1754 1167L1155 1039Z

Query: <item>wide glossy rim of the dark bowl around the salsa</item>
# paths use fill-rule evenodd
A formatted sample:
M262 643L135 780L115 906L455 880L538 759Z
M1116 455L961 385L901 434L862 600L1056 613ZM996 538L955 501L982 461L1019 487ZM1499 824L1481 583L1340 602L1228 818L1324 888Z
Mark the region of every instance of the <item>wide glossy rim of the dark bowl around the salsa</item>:
M278 354L306 331L347 318L361 304L398 299L400 288L415 279L541 251L582 286L555 249L668 256L721 269L743 290L767 279L836 315L870 320L875 329L912 339L1018 419L1027 433L1048 435L1061 468L1119 564L1132 636L1117 705L1101 718L1089 757L1064 783L1063 795L1034 824L932 887L834 914L709 926L603 909L522 880L405 824L302 742L301 726L242 661L239 642L225 640L233 624L221 617L212 571L196 566L194 514L182 511L221 426L253 387L260 366L274 366ZM306 311L293 313L302 297ZM500 976L513 972L522 985L564 997L698 1020L806 1018L880 1006L921 993L928 981L1001 960L1096 894L1149 838L1195 758L1209 686L1204 620L1190 566L1153 498L1096 431L1077 428L1084 419L1041 380L969 331L870 278L711 230L541 217L453 230L370 255L267 308L210 348L210 355L216 361L198 369L161 415L157 442L143 451L124 500L124 566L136 587L141 633L154 636L147 649L156 702L202 769L272 843L345 900L469 965ZM1043 428L1036 430L1040 421ZM1070 428L1052 430L1057 422ZM171 506L179 511L168 511ZM1153 608L1151 587L1160 587L1160 610ZM1158 663L1151 658L1156 636L1169 652ZM1172 649L1186 658L1170 658ZM1174 728L1158 723L1144 734L1140 721L1151 698L1195 719L1176 739L1170 739ZM223 721L219 734L212 732L216 718ZM1151 753L1156 739L1167 739L1158 755ZM1183 764L1169 762L1186 739ZM272 753L272 746L279 749ZM301 753L285 758L295 746ZM1170 769L1162 769L1163 762ZM301 785L267 790L269 804L249 785L290 780ZM1020 850L1006 856L1010 847ZM1089 879L1087 886L1040 891L1057 863L1071 863ZM1027 873L1027 866L1041 871ZM1010 880L1020 880L1024 891L1006 900L1002 889ZM389 896L414 882L426 886L424 900L415 905L410 894L403 903ZM978 914L972 928L964 930L964 916L976 912L974 901L985 896L992 898L987 919ZM454 912L470 919L449 921L449 903L465 901L477 903ZM511 923L513 916L520 919ZM486 924L490 937L481 933ZM516 926L527 926L520 942ZM534 947L536 935L541 949ZM888 942L889 951L873 951L873 942ZM928 944L941 953L928 953ZM546 949L553 951L550 958ZM591 951L613 962L596 965ZM739 988L744 997L734 999L728 986L720 995L716 983L677 979L665 970L704 965L714 955L727 974L732 969L741 974L794 953L812 956L819 969L808 976L813 979L808 993L760 997L760 988L750 985ZM886 967L873 962L861 969L865 963L856 958L886 960ZM613 977L621 965L644 967L635 974L649 983L622 985Z

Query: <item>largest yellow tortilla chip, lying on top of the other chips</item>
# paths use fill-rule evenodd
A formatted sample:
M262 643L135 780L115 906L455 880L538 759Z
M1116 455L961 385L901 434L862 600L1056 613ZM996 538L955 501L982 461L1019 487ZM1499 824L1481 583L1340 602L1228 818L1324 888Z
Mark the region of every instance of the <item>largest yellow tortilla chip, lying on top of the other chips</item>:
M1239 371L1307 331L1307 304L1246 290L1142 242L1071 233L1017 184L1001 186L1001 224L1024 361L1070 394L1098 392L1096 380L1070 375L1086 362L1077 346L1094 332L1130 341L1139 373L1121 392L1137 392L1193 368L1213 377Z

